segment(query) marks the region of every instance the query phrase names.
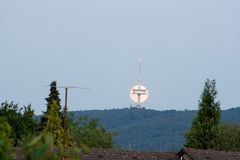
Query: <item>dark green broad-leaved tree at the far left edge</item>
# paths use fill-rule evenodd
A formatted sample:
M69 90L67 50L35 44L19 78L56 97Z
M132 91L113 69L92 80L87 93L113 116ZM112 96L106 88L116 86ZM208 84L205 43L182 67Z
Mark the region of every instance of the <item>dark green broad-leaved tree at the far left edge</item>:
M33 119L31 105L18 108L17 104L7 101L0 106L0 117L5 117L12 128L10 139L14 146L25 143L27 137L36 134L37 122Z

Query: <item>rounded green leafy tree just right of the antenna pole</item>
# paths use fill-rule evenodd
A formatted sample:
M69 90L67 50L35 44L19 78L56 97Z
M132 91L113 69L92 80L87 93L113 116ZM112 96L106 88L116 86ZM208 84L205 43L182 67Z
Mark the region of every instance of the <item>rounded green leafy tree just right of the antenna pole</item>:
M69 118L68 132L70 141L77 146L84 144L89 148L112 148L114 145L115 133L101 127L98 119L88 120L86 117L80 117L74 122Z

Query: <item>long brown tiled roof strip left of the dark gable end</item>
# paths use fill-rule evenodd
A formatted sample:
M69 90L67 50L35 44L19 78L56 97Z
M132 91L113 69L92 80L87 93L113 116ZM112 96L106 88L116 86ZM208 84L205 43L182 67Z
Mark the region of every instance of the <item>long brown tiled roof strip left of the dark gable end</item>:
M176 153L128 151L120 149L92 149L81 160L176 160Z

